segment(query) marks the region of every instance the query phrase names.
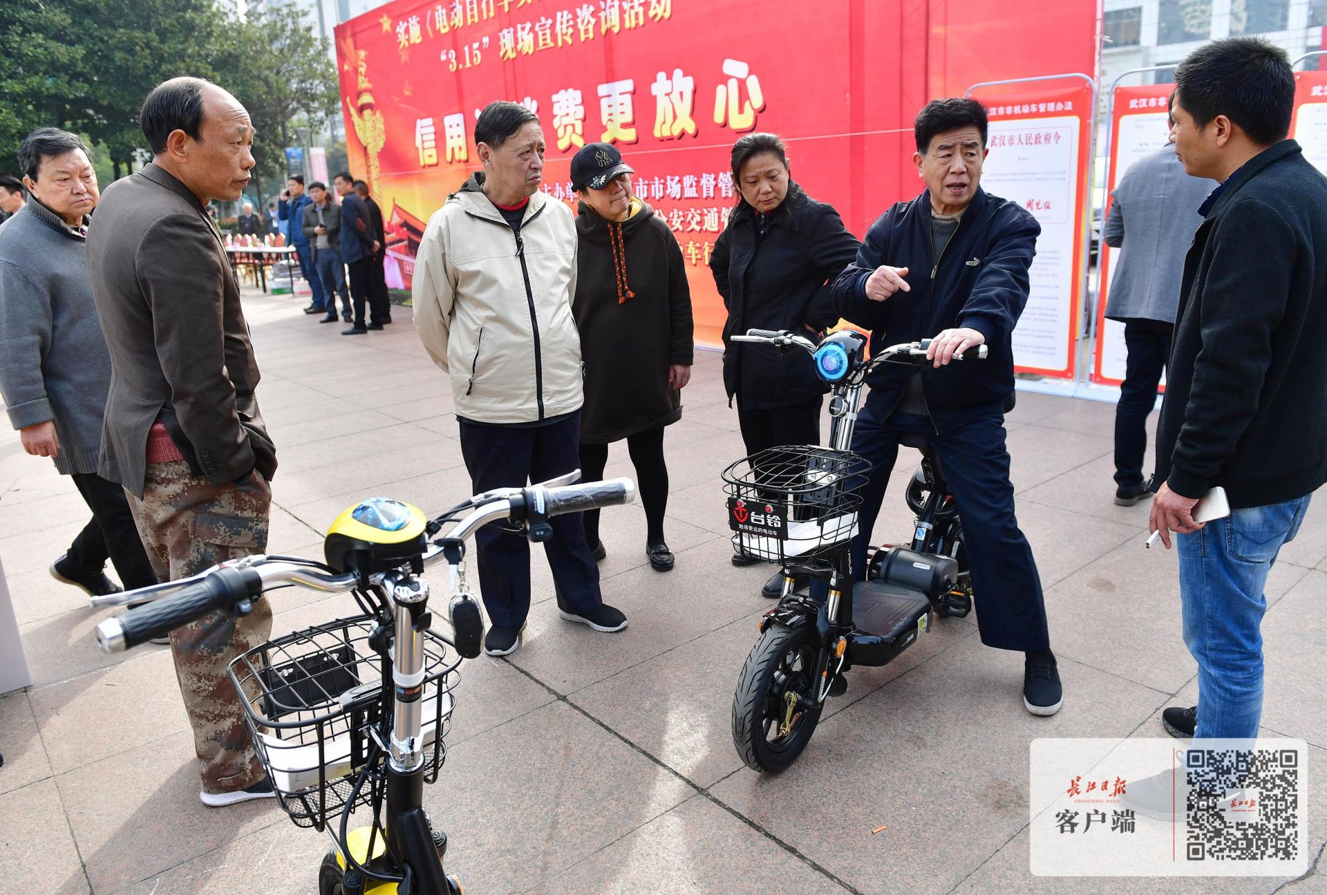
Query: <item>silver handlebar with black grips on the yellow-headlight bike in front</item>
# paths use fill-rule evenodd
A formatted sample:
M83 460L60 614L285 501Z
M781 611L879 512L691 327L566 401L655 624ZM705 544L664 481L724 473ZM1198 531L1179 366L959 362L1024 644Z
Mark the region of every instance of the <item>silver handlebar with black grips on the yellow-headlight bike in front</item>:
M636 486L629 478L585 482L547 487L533 485L525 489L502 489L471 498L478 506L447 532L446 540L463 540L480 526L511 515L524 515L535 506L545 517L564 513L583 513L597 507L629 503L636 497ZM543 507L541 510L539 507ZM425 567L445 558L441 546L431 546L423 555ZM387 574L370 576L374 584ZM122 591L93 598L94 607L121 606L151 599L122 615L104 619L97 625L97 644L105 652L123 652L153 637L166 635L190 621L196 621L215 610L231 610L244 600L257 598L273 584L291 583L329 594L352 591L360 584L356 572L332 574L318 571L304 560L273 558L264 554L228 560L198 575L175 582Z

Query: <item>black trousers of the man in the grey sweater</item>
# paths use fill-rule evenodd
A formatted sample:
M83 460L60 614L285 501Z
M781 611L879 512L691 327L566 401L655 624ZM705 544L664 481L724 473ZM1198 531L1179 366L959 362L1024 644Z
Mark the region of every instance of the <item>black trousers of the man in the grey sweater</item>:
M125 489L89 473L76 473L70 478L92 510L92 521L69 544L65 554L69 562L80 572L100 575L110 559L126 591L155 584L157 574L138 536Z

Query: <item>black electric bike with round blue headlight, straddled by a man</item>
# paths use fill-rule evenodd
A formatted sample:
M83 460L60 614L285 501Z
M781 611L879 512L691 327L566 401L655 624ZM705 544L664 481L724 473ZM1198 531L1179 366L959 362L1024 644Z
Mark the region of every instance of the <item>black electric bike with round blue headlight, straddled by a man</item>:
M831 386L829 448L771 448L723 471L734 550L779 563L783 572L779 604L760 620L733 697L733 742L742 761L778 772L805 749L825 700L847 691L848 669L889 663L937 616L966 616L973 590L958 507L928 440L912 434L900 440L922 451L906 491L916 514L912 542L868 550L867 580L852 583L849 542L871 474L849 450L861 388L877 364L926 363L930 340L890 345L869 360L867 339L849 329L819 345L768 329L733 340L807 351ZM970 356L986 357L986 345ZM795 592L795 575L824 582L828 595L821 602Z

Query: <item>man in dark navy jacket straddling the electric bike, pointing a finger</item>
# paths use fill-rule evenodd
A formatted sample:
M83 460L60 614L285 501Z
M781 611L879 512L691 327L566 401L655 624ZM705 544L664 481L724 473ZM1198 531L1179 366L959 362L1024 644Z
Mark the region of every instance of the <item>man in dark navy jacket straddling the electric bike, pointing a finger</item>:
M857 417L852 449L872 463L863 490L852 570L865 576L867 544L905 433L934 448L963 519L982 643L1026 653L1023 705L1055 714L1063 702L1050 649L1036 563L1014 517L1005 449L1005 402L1014 394L1011 336L1027 303L1040 224L981 190L986 110L975 100L934 100L917 114L913 161L926 190L867 231L835 284L835 307L872 331L872 349L932 339L930 364L882 364ZM982 363L951 364L987 345Z

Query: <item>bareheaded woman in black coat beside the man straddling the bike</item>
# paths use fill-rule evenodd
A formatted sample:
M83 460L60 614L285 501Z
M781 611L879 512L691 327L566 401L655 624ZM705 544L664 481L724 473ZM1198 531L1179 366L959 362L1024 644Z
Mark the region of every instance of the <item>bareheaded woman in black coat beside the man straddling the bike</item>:
M723 324L729 404L736 397L748 454L776 445L817 445L825 388L811 356L729 339L747 329L815 335L837 323L831 288L861 243L832 206L792 182L783 141L774 134L742 137L731 162L739 198L710 256L729 311ZM734 566L755 562L733 556ZM778 596L780 584L775 575L764 594Z

